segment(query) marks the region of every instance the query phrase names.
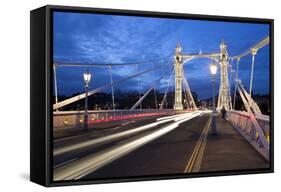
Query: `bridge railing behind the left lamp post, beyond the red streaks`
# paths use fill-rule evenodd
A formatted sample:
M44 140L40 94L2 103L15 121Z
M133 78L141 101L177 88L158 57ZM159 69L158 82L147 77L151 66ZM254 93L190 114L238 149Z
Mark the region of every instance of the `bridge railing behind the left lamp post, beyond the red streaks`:
M143 109L143 110L94 110L88 111L88 124L125 120L136 117L156 116L169 112L171 109ZM84 111L56 111L53 112L53 128L82 128L84 125Z

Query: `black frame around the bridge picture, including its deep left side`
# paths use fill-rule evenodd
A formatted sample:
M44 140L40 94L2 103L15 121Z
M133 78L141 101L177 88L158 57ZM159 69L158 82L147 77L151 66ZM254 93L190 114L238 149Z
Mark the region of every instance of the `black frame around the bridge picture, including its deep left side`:
M159 175L129 178L108 178L88 181L52 180L52 59L53 12L83 12L110 15L177 18L207 21L262 23L270 25L270 168L260 170L218 171L207 173ZM195 178L274 172L274 20L183 13L148 12L138 10L100 9L47 5L30 12L30 180L43 186L64 186L95 183L148 181L159 179Z

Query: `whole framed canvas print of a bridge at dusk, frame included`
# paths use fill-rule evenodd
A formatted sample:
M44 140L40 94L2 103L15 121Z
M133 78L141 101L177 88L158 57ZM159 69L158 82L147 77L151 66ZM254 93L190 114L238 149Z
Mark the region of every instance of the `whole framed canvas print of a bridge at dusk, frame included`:
M273 20L31 11L30 178L273 172Z

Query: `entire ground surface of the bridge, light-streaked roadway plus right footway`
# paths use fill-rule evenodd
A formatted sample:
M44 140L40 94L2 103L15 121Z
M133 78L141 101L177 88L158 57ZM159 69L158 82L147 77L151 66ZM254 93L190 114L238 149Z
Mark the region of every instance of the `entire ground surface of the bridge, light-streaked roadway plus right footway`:
M103 179L269 168L228 123L210 113L136 118L54 140L54 179Z

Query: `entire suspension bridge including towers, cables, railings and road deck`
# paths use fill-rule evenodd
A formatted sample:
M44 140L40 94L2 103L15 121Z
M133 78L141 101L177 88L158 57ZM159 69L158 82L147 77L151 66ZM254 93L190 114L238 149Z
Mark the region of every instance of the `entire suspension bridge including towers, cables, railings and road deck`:
M228 54L227 44L222 41L218 52L185 54L178 43L173 54L144 62L55 62L54 180L269 168L269 116L262 114L252 95L255 58L269 42L266 37L234 56ZM239 66L240 60L249 55L252 60L247 90L244 85L248 82L239 78ZM197 106L189 86L188 69L183 67L200 58L209 59L220 71L215 111ZM151 67L140 70L144 64ZM134 68L135 72L114 80L112 71L124 66ZM92 90L86 85L85 93L59 101L56 70L68 67L108 69L110 82ZM141 93L142 77L155 71L161 75L154 76L150 87ZM168 81L161 81L164 77L168 77ZM126 109L119 109L115 87L125 86L131 79L137 79L137 101ZM164 92L157 96L157 86L163 82ZM231 83L235 87L233 94ZM171 88L173 103L168 105ZM111 109L88 109L88 98L106 89L111 91ZM149 95L154 95L155 105L145 108ZM239 97L244 111L236 107ZM63 110L81 100L85 101L85 109ZM225 119L221 117L222 110L226 111ZM216 121L216 135L211 134L212 121Z

